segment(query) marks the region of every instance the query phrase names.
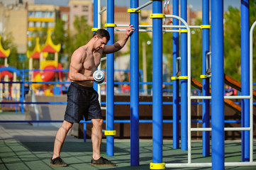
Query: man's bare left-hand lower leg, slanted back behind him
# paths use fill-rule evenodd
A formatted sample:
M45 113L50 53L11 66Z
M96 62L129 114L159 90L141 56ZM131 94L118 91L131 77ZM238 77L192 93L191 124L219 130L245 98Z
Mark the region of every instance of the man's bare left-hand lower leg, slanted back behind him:
M69 123L66 120L64 120L62 123L62 126L57 131L55 142L54 142L52 159L55 159L56 157L60 157L60 150L62 149L63 142L67 136L67 132L72 127L72 125L73 123Z

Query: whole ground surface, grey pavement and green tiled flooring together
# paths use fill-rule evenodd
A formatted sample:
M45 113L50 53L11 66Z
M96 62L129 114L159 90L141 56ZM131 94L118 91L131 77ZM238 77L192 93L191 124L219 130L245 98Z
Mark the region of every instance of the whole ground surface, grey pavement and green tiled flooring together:
M0 120L22 120L23 115L0 113ZM106 156L106 141L101 145L101 155L115 162L116 167L92 167L91 142L67 136L62 148L62 159L69 166L60 168L49 166L53 141L60 124L30 125L28 123L0 123L0 169L150 169L152 162L152 140L140 140L140 166L130 166L130 141L115 140L115 156ZM225 145L226 162L240 162L240 142L228 141ZM254 144L256 148L256 142ZM256 149L254 149L256 161ZM163 162L186 163L187 151L172 149L172 141L165 140ZM211 162L211 157L201 156L201 142L192 142L192 162ZM177 169L177 168L173 168ZM189 168L182 168L189 169ZM190 168L211 169L211 168ZM235 166L226 169L256 169L256 166Z

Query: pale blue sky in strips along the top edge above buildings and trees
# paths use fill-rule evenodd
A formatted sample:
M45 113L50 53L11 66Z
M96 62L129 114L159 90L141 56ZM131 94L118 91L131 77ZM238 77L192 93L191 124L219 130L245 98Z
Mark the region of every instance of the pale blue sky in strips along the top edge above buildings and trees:
M67 6L69 0L35 0L35 4L54 4L57 6ZM139 0L139 6L145 4L149 0ZM187 0L187 4L191 5L192 11L201 11L202 0ZM180 3L180 1L179 1ZM172 4L172 0L169 0L169 4ZM127 6L130 7L129 0L116 0L116 6ZM101 6L106 6L106 0L101 0ZM240 8L240 0L224 0L224 11L228 10L228 6ZM152 4L147 7L152 8Z

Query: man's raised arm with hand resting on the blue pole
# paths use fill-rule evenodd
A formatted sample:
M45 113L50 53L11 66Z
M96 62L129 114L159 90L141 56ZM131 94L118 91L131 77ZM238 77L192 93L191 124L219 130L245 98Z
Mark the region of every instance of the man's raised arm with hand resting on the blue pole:
M121 48L124 45L126 45L127 40L129 39L130 35L134 32L134 30L135 28L133 28L133 25L129 25L128 28L126 28L126 35L123 38L121 38L121 40L118 40L117 42L113 43L113 45L106 45L104 47L103 53L109 54L121 50Z

